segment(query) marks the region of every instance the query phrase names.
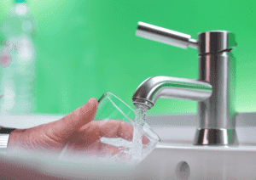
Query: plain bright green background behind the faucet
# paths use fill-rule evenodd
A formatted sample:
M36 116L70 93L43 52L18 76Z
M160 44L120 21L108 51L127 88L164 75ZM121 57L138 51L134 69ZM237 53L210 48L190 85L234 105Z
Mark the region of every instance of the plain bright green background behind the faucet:
M111 92L132 104L149 76L197 78L197 51L136 37L137 22L197 38L236 34L236 110L256 111L256 3L234 0L26 0L38 22L37 113L67 114ZM12 0L0 1L0 20ZM196 113L197 103L159 99L149 115Z

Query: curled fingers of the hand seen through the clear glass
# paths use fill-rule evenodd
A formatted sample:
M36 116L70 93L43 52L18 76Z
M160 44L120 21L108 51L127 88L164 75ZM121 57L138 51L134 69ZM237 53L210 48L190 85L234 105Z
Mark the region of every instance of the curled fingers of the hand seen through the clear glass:
M132 141L133 127L125 121L90 121L90 123L74 132L73 138L67 143L66 152L69 160L87 157L106 157L121 153L119 147L102 143L101 138L123 138ZM143 144L149 143L149 139L143 135ZM124 147L125 148L125 147ZM129 148L126 148L129 149ZM61 155L62 156L62 155Z

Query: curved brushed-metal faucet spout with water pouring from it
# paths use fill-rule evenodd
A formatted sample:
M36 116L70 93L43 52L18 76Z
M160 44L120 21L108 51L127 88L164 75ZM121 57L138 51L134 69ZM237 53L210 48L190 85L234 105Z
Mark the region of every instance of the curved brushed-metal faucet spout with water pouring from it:
M212 95L212 85L195 79L153 76L142 82L132 96L133 104L145 104L149 110L158 98L204 101Z

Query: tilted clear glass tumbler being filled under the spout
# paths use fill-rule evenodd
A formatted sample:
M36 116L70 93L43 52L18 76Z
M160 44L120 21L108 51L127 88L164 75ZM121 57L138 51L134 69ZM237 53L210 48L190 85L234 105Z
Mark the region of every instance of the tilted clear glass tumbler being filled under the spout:
M160 138L146 122L140 144L142 151L138 158L132 139L135 117L135 111L124 101L113 93L104 93L98 100L96 115L89 123L91 125L88 124L88 128L84 128L84 136L88 136L89 139L88 142L84 142L88 143L85 144L86 149L79 150L79 147L67 143L59 159L137 165L160 143ZM92 136L96 138L91 139Z

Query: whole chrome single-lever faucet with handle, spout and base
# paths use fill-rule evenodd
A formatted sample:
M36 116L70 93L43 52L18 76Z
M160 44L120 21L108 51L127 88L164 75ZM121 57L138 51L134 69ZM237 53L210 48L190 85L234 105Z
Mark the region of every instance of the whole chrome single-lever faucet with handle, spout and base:
M231 50L235 35L229 31L206 31L198 41L189 35L138 22L136 35L179 48L198 49L198 79L153 76L142 82L132 96L133 104L153 108L158 98L198 101L199 124L195 145L237 145L235 120L235 67Z

